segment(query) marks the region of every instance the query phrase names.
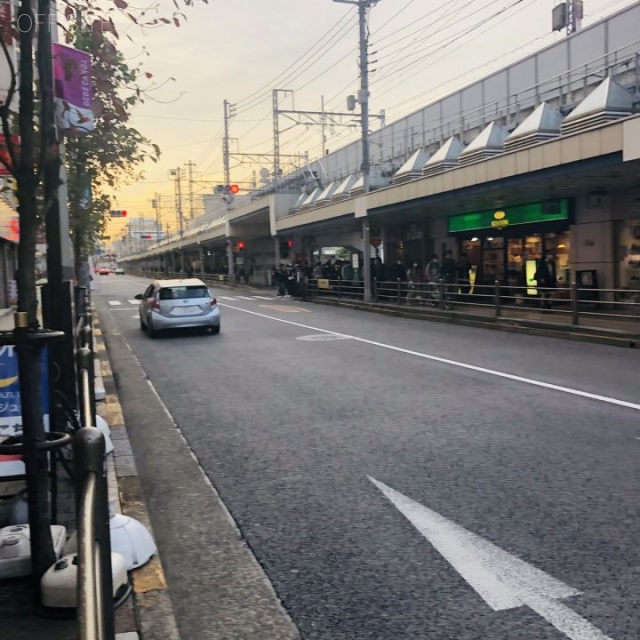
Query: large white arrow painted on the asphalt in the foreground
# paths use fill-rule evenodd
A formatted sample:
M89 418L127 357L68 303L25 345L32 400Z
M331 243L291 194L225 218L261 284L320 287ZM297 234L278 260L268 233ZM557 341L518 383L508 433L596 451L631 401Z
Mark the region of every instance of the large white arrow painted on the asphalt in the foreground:
M580 592L367 476L494 610L528 606L571 640L611 640L557 602Z

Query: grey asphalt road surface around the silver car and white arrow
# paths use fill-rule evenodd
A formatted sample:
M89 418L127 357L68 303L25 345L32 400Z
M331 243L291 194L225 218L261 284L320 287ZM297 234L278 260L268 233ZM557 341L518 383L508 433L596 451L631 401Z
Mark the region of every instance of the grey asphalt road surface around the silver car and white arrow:
M222 290L219 336L156 341L128 302L142 283L101 281L105 326L302 638L636 640L637 351Z

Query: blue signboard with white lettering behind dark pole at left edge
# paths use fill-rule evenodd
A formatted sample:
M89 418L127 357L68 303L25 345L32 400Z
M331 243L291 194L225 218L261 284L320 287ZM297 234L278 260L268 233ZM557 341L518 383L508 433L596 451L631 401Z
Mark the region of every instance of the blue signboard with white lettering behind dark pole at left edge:
M49 430L49 375L47 349L42 350L42 413L45 430ZM15 347L0 347L0 441L22 433L22 407L18 355ZM23 476L22 456L0 455L0 478Z

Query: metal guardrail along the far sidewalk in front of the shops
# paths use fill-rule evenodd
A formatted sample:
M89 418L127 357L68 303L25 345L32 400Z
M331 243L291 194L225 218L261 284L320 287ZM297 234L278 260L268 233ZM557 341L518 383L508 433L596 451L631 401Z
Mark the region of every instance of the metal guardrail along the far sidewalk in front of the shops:
M305 294L313 297L362 300L361 281L312 279ZM434 312L476 314L503 319L536 319L554 314L573 326L585 323L606 328L631 327L640 332L640 291L629 289L581 288L569 286L539 288L496 281L493 285L467 283L409 283L402 280L372 281L373 303L411 308L431 308Z

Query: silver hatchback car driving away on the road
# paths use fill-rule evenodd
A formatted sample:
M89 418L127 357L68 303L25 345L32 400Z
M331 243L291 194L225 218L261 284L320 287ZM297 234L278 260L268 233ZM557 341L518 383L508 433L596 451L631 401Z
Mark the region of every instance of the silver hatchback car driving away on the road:
M218 302L198 278L154 280L136 300L140 300L140 328L151 338L159 331L189 327L220 333Z

